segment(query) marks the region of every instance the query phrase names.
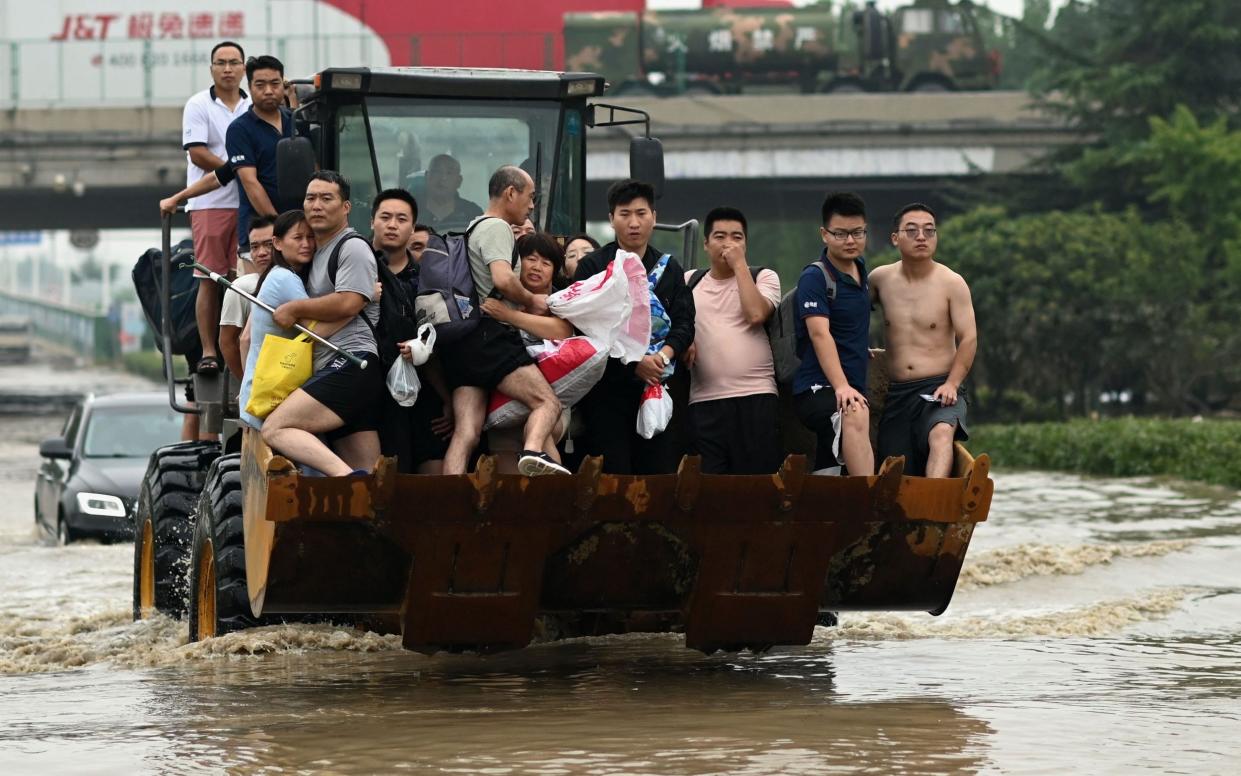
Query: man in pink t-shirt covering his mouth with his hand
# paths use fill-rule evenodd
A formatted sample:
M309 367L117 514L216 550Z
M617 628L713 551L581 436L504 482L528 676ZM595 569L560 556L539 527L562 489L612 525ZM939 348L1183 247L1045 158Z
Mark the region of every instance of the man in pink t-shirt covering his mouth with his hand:
M769 474L779 468L779 399L763 324L779 304L779 276L746 263L746 216L716 207L704 222L710 269L685 274L694 294L690 426L702 472Z

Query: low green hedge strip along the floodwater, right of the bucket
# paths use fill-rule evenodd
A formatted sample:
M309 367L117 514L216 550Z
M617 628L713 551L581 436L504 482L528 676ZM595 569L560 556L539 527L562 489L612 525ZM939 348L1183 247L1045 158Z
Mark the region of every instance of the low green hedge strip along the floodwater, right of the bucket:
M1241 421L1116 418L983 425L969 449L999 468L1176 477L1241 488Z

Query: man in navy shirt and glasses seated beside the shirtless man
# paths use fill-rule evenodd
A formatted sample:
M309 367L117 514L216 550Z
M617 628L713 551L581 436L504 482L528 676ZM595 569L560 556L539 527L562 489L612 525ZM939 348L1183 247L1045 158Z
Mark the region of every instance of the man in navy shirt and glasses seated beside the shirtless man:
M856 194L823 200L825 246L797 282L797 416L818 436L815 473L874 474L866 366L870 360L870 292L866 287L866 206ZM827 274L825 274L827 273ZM835 282L828 292L827 277Z

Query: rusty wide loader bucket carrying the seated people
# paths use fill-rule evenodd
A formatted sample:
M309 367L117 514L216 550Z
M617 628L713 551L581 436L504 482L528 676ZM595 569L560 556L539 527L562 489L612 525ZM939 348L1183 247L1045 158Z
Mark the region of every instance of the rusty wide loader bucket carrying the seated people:
M993 483L957 447L956 477L299 476L243 444L254 615L352 617L410 649L510 649L545 637L684 631L712 652L808 643L820 612L942 612Z

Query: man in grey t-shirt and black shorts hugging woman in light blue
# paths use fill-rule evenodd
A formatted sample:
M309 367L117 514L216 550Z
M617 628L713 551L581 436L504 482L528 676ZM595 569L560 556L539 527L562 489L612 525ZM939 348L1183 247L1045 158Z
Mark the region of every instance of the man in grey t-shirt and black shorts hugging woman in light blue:
M310 298L282 304L273 318L285 328L298 319L318 320L320 335L369 364L361 369L336 351L315 345L314 374L263 421L263 440L273 449L329 477L366 472L375 466L386 390L371 330L379 323L379 266L369 241L351 237L356 232L349 228L349 181L340 173L320 170L310 178L305 212L319 246L307 279ZM333 278L329 262L338 245Z

